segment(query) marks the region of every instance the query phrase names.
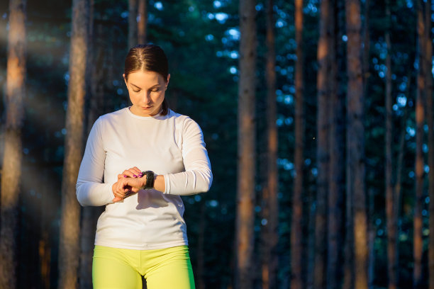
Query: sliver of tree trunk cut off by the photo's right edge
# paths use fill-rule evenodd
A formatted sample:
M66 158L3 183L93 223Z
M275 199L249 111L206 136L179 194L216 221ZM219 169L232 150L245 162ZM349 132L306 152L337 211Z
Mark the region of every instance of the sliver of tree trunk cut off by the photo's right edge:
M426 38L426 121L428 123L428 196L430 197L429 212L429 229L430 238L428 244L428 276L429 289L434 289L434 115L433 115L433 64L430 61L433 58L433 42L431 42L431 0L426 3L425 10L425 38Z

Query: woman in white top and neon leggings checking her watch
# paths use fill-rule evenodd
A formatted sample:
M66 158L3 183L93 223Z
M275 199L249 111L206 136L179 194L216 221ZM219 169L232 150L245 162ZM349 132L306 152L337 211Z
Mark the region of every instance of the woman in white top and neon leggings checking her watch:
M79 169L81 205L106 205L96 227L94 288L194 288L180 196L206 192L199 125L169 110L167 57L137 45L123 74L132 106L94 123Z

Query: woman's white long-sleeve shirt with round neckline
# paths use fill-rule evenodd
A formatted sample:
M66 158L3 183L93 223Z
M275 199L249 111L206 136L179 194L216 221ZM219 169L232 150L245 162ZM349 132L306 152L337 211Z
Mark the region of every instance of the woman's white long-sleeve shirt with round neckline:
M113 203L118 174L137 166L165 177L165 192L140 190ZM201 128L188 116L140 117L123 108L94 123L77 179L81 205L106 205L95 244L123 249L163 249L187 245L180 195L206 192L211 164Z

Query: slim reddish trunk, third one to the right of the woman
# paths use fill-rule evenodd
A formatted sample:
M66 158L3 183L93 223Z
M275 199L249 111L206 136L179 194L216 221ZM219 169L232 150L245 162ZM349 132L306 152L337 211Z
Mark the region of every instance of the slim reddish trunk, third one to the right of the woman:
M296 27L296 106L295 106L295 151L294 151L294 193L292 197L291 222L291 288L304 287L302 266L303 263L303 146L304 146L304 104L303 104L303 0L295 1L295 27Z

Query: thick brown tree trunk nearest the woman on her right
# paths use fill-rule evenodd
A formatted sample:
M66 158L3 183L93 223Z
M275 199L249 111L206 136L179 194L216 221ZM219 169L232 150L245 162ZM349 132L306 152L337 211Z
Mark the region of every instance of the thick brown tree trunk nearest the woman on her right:
M238 190L235 288L252 288L255 220L255 1L240 0L240 80L238 85Z

